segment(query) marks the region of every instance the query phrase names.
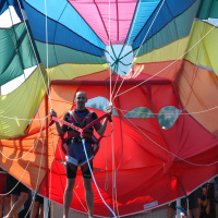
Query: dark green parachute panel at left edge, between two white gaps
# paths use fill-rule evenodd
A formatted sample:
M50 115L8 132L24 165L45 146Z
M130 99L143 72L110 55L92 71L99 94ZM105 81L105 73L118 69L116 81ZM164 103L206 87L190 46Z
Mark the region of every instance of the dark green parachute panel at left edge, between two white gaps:
M0 85L37 64L24 23L0 29Z

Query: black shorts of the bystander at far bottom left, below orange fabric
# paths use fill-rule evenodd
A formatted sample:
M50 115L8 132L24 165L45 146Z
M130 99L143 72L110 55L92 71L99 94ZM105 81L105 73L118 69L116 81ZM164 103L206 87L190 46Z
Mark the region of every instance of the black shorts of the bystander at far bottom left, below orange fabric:
M20 182L19 184L17 184L17 182L19 181L14 177L7 173L4 192L5 193L10 192L10 194L15 194L15 195L20 195L21 192L28 193L28 187L25 186L22 182Z

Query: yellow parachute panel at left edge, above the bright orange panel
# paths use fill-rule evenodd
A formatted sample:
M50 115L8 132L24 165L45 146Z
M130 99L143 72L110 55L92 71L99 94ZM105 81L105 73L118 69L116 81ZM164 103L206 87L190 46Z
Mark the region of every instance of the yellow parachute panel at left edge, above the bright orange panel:
M47 82L47 73L43 68L41 72ZM32 119L45 95L46 87L41 73L39 69L36 69L19 88L0 96L0 138L23 135L29 120L19 119Z

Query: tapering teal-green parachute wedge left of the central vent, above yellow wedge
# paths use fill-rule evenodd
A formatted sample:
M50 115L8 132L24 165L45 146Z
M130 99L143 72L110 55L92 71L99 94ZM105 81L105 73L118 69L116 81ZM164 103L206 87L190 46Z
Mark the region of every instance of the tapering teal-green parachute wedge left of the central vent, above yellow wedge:
M47 66L47 46L45 43L36 41L41 62ZM92 56L82 51L73 50L60 45L48 44L48 66L61 63L106 63L105 57Z

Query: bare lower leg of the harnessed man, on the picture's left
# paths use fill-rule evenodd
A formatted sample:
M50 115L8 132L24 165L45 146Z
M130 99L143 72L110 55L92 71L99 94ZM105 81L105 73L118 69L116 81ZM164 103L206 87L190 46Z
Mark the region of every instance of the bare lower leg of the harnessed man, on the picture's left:
M75 178L66 179L66 186L63 196L63 218L69 217L69 209L73 198L73 187L75 184Z

